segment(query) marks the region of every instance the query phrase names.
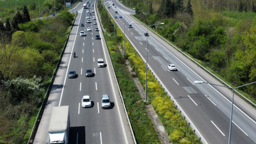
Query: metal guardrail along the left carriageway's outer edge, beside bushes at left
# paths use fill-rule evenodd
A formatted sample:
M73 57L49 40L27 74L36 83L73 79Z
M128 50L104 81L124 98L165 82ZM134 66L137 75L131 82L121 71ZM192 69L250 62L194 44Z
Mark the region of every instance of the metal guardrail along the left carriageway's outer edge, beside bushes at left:
M73 21L72 28L73 28L73 26L74 26L74 22L76 21L76 17L77 17L77 13L76 13L76 16L74 17L75 19L74 19L74 21ZM70 32L72 31L72 28L70 29ZM62 56L63 56L63 54L64 54L64 52L65 52L65 49L66 49L66 47L67 47L67 44L68 44L70 32L68 33L67 40L66 40L66 42L65 42L65 45L63 46L63 50L62 50L62 52L61 52L59 61L58 61L57 65L56 65L56 68L55 68L54 73L53 73L53 75L52 75L51 82L50 82L50 84L49 84L49 86L48 86L48 88L47 88L47 92L45 93L45 97L44 97L44 100L43 100L42 105L41 105L41 107L40 107L40 110L39 110L39 112L38 112L38 115L36 116L36 121L35 121L35 124L33 125L33 129L32 129L31 134L30 134L30 136L29 136L28 144L33 143L33 141L34 141L34 139L35 139L36 131L37 131L38 126L39 126L39 124L40 124L42 115L43 115L43 113L44 113L44 108L45 108L46 102L47 102L47 100L48 100L48 97L49 97L49 95L50 95L51 88L52 88L52 84L54 83L56 74L57 74L58 69L59 69L59 67L60 67L60 63L61 63Z

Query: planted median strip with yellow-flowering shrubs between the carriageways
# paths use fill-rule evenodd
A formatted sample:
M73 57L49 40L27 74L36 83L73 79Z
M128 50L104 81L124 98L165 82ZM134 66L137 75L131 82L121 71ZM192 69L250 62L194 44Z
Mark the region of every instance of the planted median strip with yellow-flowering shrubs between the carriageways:
M118 47L124 49L124 34L116 26L116 34L114 35L114 20L108 15L102 4L98 4L100 18L103 23L106 33L106 39L111 61L115 69L118 84L120 86L122 95L124 97L125 107L132 124L137 143L159 143L156 131L152 127L152 122L148 118L145 111L145 103L140 98L136 85L132 81L132 76L125 66L125 60L129 60L132 70L136 72L136 77L139 78L140 83L145 88L145 63L134 50L129 41L125 40L125 58L122 56ZM109 17L109 20L108 20ZM150 72L148 72L148 100L154 106L157 115L161 119L162 124L172 143L200 143L200 140L195 136L179 111L175 108L172 100L157 83L156 79Z

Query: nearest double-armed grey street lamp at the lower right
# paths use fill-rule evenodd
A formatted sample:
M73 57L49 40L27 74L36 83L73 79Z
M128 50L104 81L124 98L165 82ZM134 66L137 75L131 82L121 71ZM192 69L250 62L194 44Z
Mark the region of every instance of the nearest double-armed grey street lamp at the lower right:
M221 87L224 87L224 88L230 88L232 89L232 106L231 106L231 115L230 115L230 124L229 124L229 134L228 134L228 144L230 144L230 141L231 141L231 130L232 130L232 117L233 117L233 106L234 106L234 93L235 93L235 89L236 88L241 88L243 86L247 86L247 85L250 85L250 84L253 84L253 83L256 83L255 82L252 82L252 83L248 83L248 84L244 84L244 85L241 85L241 86L237 86L237 87L234 87L232 88L231 86L222 86L222 85L219 85L219 84L213 84L213 83L207 83L205 81L194 81L195 84L202 84L202 83L206 83L206 84L211 84L211 85L214 85L214 86L221 86Z

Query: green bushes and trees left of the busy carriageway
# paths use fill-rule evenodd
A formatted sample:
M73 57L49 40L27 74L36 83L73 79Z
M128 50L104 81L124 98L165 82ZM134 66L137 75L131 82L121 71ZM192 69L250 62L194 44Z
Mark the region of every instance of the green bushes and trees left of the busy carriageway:
M73 17L63 11L54 19L31 21L24 6L11 22L0 22L0 143L28 141L29 120L42 102Z

